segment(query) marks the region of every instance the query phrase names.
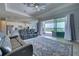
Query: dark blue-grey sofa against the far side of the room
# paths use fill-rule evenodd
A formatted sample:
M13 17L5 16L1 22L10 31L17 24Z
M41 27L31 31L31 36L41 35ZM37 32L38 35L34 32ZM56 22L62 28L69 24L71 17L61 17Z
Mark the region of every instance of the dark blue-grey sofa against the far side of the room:
M19 30L19 35L21 39L26 40L38 36L38 33L35 32L35 29L21 29Z

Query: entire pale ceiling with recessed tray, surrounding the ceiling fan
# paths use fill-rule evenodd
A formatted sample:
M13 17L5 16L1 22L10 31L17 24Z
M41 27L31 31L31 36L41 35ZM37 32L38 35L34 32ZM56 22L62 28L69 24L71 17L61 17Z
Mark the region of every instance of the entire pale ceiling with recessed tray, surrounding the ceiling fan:
M32 20L46 20L55 17L56 14L61 12L66 12L79 5L68 3L45 3L45 9L40 11L35 11L31 7L25 6L23 3L0 3L0 17L7 18L8 21L32 21ZM2 6L5 6L5 10L2 10ZM72 7L72 8L70 8ZM10 11L11 10L11 11Z

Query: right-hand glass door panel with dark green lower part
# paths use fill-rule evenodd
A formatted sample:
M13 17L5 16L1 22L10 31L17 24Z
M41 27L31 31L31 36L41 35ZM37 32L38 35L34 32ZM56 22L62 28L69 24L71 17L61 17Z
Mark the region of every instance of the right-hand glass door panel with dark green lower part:
M60 38L64 38L64 32L65 32L65 17L64 18L59 18L56 19L56 24L57 24L57 31L56 31L56 36Z

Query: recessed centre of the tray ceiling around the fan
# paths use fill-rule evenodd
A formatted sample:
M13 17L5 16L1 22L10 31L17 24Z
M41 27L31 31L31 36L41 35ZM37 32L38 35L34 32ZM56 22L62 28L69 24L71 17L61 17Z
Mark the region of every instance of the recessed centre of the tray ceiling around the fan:
M40 3L42 4L42 3ZM44 4L44 3L43 3ZM45 9L41 9L40 11L37 11L36 9L32 8L32 7L28 7L26 5L24 5L24 3L9 3L7 4L8 8L13 9L13 10L17 10L23 13L26 13L30 16L38 16L41 14L44 14L46 12L49 12L51 9L60 7L61 5L64 5L64 3L45 3L44 7Z

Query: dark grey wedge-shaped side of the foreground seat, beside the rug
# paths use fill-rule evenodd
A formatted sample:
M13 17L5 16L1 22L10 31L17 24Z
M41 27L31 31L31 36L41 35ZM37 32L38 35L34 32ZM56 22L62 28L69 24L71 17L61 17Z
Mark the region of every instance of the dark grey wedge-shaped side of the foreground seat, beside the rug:
M31 44L21 46L14 51L6 54L6 56L32 56L33 55L33 46Z

